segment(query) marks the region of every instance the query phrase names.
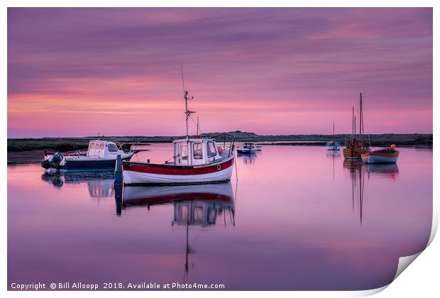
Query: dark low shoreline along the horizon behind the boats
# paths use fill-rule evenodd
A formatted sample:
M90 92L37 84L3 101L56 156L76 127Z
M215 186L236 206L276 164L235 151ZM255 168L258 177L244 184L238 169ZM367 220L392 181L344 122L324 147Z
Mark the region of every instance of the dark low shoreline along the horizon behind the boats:
M331 135L287 135L287 136L263 136L255 133L242 131L228 132L235 134L236 142L253 142L262 145L325 145L331 140ZM201 138L214 138L224 133L204 133ZM334 140L343 146L351 135L339 134ZM386 147L395 144L401 147L416 146L419 148L432 148L432 133L384 133L365 136L372 146ZM369 138L368 138L369 137ZM183 136L101 136L100 139L113 140L117 143L170 143ZM97 137L84 138L9 138L8 139L8 165L40 163L43 160L44 151L64 152L87 148L89 140ZM219 144L223 137L217 138Z

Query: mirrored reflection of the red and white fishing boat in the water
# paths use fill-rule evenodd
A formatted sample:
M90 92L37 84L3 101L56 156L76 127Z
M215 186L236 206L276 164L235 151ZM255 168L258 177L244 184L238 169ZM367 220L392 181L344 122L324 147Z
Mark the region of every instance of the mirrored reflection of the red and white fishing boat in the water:
M189 226L235 226L235 202L231 182L158 187L115 187L116 214L139 206L173 204L171 226L186 226L185 273L188 272ZM121 195L122 194L122 195Z

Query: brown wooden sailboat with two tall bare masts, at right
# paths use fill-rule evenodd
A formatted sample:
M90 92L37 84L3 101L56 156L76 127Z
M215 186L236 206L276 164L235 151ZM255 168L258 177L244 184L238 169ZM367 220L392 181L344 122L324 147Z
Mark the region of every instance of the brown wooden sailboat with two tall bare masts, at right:
M356 160L361 159L362 154L368 152L370 147L365 142L363 138L363 111L362 111L362 93L361 93L361 104L359 107L359 134L356 136L356 117L354 116L354 108L353 108L353 116L351 123L351 138L348 141L348 145L343 149L343 157L348 160Z

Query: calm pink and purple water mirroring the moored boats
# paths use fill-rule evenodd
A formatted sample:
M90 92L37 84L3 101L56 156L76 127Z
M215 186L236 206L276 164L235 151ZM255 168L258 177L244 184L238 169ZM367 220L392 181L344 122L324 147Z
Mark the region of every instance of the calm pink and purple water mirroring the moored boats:
M172 154L148 148L139 159ZM8 286L381 287L431 231L432 151L400 150L397 165L367 166L323 147L266 145L236 159L238 181L123 191L111 172L9 166Z

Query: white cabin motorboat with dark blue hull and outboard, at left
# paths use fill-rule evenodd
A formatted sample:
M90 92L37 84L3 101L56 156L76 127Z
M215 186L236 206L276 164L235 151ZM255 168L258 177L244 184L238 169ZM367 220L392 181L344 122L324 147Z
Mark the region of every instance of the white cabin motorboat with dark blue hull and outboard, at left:
M68 151L66 153L47 153L41 162L45 169L60 170L106 170L114 169L116 158L130 160L134 151L125 152L116 143L107 140L91 140L87 150Z

